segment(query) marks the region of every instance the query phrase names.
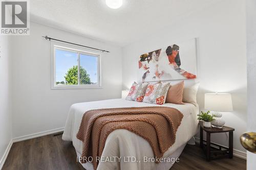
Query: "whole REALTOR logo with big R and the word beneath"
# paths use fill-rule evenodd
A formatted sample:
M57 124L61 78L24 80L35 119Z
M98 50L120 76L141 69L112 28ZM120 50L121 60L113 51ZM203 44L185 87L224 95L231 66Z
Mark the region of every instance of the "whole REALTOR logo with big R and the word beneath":
M28 0L1 1L1 35L29 35Z

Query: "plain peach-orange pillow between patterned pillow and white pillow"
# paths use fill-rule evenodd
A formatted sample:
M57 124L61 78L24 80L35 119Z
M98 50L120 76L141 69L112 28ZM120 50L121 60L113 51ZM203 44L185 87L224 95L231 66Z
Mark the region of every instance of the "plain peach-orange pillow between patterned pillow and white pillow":
M175 85L171 85L167 95L166 95L166 103L174 103L183 105L182 95L183 95L184 81L177 83Z

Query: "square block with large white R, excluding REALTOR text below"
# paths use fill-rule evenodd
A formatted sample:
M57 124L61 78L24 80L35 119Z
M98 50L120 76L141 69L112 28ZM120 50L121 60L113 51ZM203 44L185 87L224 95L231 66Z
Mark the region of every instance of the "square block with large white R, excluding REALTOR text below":
M2 1L1 14L2 28L27 27L26 1Z

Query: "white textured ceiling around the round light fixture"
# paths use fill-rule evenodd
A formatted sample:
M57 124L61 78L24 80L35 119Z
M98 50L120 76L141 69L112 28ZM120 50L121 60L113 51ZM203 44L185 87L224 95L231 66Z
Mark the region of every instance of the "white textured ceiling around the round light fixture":
M218 0L123 0L111 9L105 0L33 0L31 21L124 46Z

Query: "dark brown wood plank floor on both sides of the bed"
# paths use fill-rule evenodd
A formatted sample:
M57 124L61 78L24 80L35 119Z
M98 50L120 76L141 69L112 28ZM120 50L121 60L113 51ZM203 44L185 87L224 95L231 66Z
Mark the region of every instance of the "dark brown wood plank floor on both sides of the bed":
M61 135L47 135L13 143L3 170L10 169L83 169L76 161L72 142L63 141ZM172 170L180 169L246 169L246 160L233 157L207 162L198 145L187 144Z

